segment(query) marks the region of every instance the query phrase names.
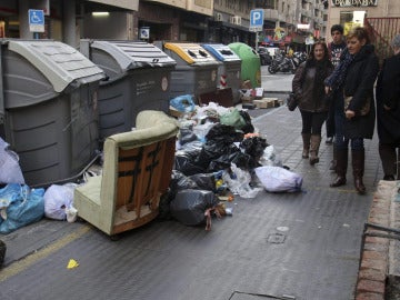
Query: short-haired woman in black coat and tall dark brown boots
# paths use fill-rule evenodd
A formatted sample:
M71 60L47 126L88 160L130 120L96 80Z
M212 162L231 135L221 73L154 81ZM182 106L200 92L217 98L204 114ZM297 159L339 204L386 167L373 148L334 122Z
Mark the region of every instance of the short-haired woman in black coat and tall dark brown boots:
M326 80L326 92L343 93L343 138L337 144L337 178L330 184L346 184L348 147L350 141L356 190L363 194L364 172L363 139L372 139L374 129L373 84L379 71L378 57L364 28L357 27L347 37L340 63ZM338 136L337 136L338 137Z

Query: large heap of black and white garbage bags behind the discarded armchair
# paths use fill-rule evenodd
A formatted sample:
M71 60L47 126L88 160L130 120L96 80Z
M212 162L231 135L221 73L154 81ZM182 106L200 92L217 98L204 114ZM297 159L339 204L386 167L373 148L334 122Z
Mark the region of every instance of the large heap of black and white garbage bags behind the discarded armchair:
M188 107L192 106L186 106L179 119L174 170L170 190L160 202L160 218L188 226L206 223L209 229L210 211L231 214L219 200L223 197L301 190L302 178L282 167L247 111L213 102L193 111Z

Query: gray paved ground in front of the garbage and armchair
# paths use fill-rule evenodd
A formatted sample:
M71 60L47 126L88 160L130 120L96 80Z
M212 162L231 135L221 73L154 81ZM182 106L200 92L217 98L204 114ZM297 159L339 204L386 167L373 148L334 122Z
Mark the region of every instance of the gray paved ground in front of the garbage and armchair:
M318 164L301 158L298 110L249 113L283 164L303 177L302 192L237 197L233 216L213 220L210 232L154 221L110 241L87 223L42 220L1 237L8 253L0 299L354 299L363 224L382 178L377 137L366 141L368 193L359 196L351 167L346 186L329 188L332 146L324 137ZM79 267L68 270L70 259Z

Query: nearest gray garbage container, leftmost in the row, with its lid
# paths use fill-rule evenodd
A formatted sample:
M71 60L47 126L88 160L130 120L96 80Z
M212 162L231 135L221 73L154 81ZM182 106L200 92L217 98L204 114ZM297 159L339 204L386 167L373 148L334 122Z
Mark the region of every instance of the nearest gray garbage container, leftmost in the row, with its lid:
M96 158L100 68L61 42L3 40L1 77L2 134L28 184L71 178Z

